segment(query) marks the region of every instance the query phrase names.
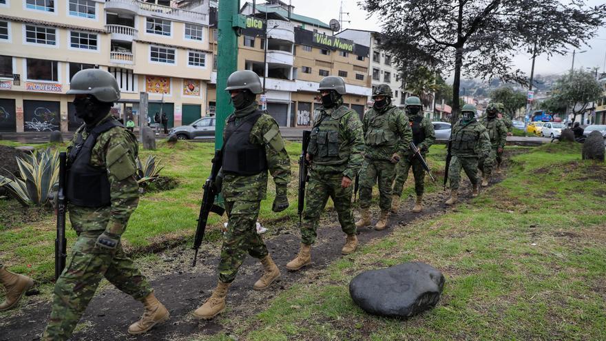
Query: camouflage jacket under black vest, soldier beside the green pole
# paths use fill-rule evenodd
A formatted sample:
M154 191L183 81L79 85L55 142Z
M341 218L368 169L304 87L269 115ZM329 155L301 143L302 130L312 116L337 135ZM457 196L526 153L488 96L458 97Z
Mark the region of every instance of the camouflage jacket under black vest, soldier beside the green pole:
M264 145L267 166L275 187L286 187L291 178L291 160L273 117L262 114L258 118L251 128L250 143ZM224 174L222 194L227 201L263 200L267 198L267 172L250 176Z

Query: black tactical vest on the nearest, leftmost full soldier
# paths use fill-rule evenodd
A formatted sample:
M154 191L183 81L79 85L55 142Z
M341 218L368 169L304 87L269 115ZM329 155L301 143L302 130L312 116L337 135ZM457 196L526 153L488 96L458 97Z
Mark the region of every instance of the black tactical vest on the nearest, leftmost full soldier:
M107 168L90 164L90 153L97 138L113 127L124 127L112 118L94 127L82 143L82 132L70 150L67 169L67 200L83 207L105 207L111 205Z

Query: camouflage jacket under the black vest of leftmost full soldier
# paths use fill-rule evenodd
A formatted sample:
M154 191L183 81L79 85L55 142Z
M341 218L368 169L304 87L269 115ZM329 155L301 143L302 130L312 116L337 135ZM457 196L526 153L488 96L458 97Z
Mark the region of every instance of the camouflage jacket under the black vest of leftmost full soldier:
M107 114L106 118L103 118L98 125L105 123L108 118L114 119L112 114ZM72 141L67 145L68 154L70 149L74 147L79 134L82 134L83 141L85 141L88 136L85 125L76 130ZM124 162L116 162L107 167L107 154L110 150L112 153L115 153L116 150L123 153L122 160ZM139 185L135 178L137 156L137 139L132 132L124 127L113 127L107 132L99 134L91 150L90 165L107 169L112 204L109 207L101 208L69 205L70 221L76 231L105 230L116 235L124 233L130 215L139 202ZM124 174L124 172L132 172L132 175L123 180L118 180L116 173Z

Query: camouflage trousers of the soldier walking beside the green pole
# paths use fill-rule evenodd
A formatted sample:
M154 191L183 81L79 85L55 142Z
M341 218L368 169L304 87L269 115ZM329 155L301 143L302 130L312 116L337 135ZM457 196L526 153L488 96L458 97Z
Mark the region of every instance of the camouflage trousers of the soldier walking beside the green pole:
M257 234L260 207L258 200L225 201L229 223L219 262L221 282L231 283L236 279L236 273L247 254L259 259L269 254L263 239Z

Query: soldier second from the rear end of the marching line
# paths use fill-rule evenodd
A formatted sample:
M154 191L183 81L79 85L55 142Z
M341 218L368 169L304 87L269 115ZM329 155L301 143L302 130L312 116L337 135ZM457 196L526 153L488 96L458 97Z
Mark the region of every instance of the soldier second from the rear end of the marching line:
M482 187L488 186L488 179L492 175L492 167L494 161L497 160L497 155L503 154L503 148L507 141L507 127L501 118L497 117L497 106L490 103L486 108L486 114L482 117L480 123L486 130L488 130L488 136L490 136L490 153L488 156L480 160L479 167L482 171Z

